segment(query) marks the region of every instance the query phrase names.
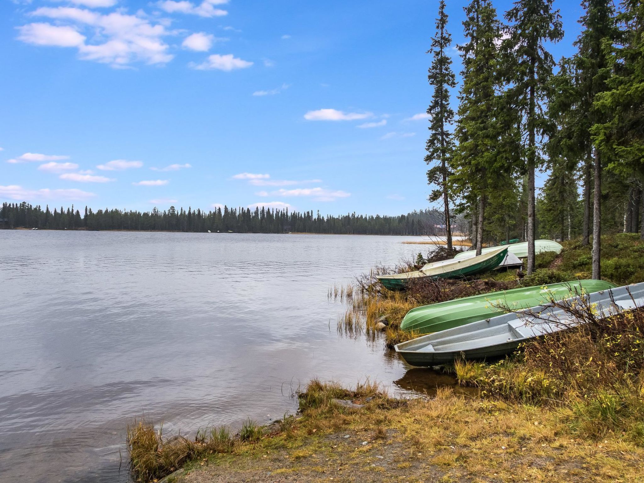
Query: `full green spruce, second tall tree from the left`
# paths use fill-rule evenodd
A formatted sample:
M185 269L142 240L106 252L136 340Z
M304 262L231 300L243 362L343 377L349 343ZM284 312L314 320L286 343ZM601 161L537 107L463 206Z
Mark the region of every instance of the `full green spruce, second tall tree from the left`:
M502 169L498 140L502 129L498 120L498 55L500 24L488 0L473 0L464 8L466 43L459 46L463 85L459 93L458 140L453 155L450 184L460 194L463 205L477 212L476 240L480 254L483 223L490 189L494 189L497 169Z

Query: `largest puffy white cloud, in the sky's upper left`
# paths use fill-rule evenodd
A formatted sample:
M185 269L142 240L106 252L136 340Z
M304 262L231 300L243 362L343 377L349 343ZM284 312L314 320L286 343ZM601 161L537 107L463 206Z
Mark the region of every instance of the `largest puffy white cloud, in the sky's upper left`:
M164 64L173 59L162 37L171 35L164 21L153 24L142 12L126 15L119 11L99 14L75 7L41 7L31 15L67 21L72 25L32 23L19 27L19 39L32 44L77 47L86 61L124 68L131 62ZM82 35L82 32L87 35ZM88 44L86 39L99 43Z

